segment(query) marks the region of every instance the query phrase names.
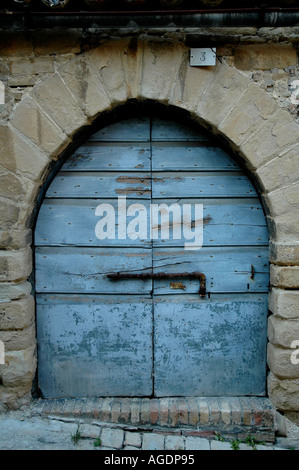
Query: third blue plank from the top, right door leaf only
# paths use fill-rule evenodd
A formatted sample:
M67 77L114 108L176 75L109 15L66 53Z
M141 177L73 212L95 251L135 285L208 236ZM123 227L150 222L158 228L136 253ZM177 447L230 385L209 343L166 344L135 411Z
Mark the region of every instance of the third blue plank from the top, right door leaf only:
M254 197L251 181L241 172L153 173L153 198Z

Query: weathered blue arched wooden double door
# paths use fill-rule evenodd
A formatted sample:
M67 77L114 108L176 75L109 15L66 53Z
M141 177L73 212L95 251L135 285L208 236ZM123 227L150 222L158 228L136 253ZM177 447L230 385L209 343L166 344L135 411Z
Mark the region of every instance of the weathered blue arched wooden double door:
M189 207L191 232L202 208L202 248L186 248L172 211L168 232L161 213L153 226L161 204ZM99 238L108 206L114 232ZM265 218L250 180L204 134L149 117L94 134L49 186L35 246L45 397L265 394ZM205 297L179 275L195 271Z

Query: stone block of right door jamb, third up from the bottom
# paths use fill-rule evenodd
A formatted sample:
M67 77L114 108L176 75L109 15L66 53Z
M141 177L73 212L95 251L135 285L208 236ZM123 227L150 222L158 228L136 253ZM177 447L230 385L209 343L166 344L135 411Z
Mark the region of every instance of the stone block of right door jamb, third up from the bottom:
M299 341L299 319L286 320L271 315L268 320L268 338L275 346L291 348L293 341Z

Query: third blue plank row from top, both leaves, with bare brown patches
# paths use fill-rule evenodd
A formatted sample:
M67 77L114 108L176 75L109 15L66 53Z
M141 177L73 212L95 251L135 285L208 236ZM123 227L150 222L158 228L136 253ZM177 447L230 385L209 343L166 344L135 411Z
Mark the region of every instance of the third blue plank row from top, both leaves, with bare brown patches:
M254 186L242 173L177 172L153 173L153 198L254 197ZM151 197L148 173L60 172L47 191L47 197Z

